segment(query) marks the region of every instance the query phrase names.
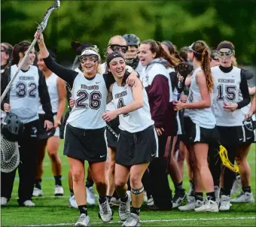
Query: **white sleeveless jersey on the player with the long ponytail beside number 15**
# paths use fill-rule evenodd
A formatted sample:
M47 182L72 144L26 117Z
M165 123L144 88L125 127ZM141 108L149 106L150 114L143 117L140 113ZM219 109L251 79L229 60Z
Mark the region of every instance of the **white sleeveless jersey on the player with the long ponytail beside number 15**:
M202 71L202 68L197 68L191 76L190 90L187 101L189 103L195 103L202 100L199 86L197 84L196 75L198 71ZM211 104L213 102L213 94L211 93ZM203 109L188 109L188 116L198 126L206 129L213 129L216 125L215 116L212 113L212 108Z

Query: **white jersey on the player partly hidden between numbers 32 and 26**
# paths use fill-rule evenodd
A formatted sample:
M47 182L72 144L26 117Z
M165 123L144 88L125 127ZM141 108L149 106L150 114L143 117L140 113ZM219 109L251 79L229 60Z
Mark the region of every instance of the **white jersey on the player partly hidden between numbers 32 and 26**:
M51 74L50 77L45 77L45 82L48 87L48 92L50 95L50 104L53 113L57 113L59 107L59 92L57 87L58 76L56 74ZM38 113L44 114L42 105L39 105Z

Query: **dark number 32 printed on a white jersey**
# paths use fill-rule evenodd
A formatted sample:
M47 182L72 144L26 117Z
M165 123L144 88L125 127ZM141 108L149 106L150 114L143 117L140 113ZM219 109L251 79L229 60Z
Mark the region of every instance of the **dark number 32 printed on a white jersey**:
M24 82L18 82L16 83L16 95L19 98L24 98L28 94L29 98L35 98L36 88L36 84L33 82L30 82L28 85Z

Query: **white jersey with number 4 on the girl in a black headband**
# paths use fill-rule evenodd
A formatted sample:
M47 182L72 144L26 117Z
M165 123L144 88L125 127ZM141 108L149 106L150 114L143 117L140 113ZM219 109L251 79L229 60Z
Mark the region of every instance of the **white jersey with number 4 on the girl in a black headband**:
M114 107L120 108L133 102L133 91L130 86L118 86L114 83L112 89L112 95L114 100ZM141 132L147 129L149 126L154 125L154 121L151 120L151 112L148 104L148 95L143 88L143 107L130 113L123 113L119 115L120 126L123 131L130 133Z

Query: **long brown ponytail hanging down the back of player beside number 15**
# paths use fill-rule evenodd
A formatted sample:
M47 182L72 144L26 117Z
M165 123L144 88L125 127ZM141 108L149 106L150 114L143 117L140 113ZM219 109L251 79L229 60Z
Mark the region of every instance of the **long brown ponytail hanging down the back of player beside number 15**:
M210 65L210 49L204 41L196 41L191 47L195 58L200 61L201 68L206 76L206 85L209 92L213 89L213 77Z

